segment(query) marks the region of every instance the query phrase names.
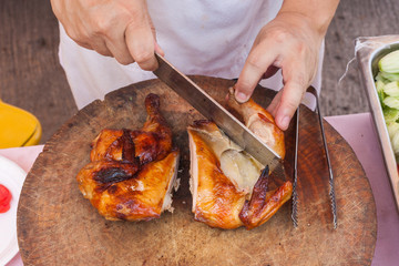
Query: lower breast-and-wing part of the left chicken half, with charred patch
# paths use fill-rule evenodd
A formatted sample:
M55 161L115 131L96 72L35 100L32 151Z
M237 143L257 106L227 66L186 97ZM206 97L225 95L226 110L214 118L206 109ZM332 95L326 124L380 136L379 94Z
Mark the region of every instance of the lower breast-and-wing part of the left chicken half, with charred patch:
M143 165L95 161L78 174L83 196L106 219L149 221L171 207L178 152Z

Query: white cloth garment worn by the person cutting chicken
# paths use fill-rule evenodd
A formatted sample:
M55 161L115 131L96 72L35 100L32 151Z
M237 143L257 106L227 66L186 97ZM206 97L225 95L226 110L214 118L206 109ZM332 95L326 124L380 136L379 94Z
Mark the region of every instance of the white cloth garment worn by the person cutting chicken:
M280 9L283 0L151 0L149 12L165 58L185 74L238 78L252 44ZM79 109L119 88L155 79L136 63L122 65L113 58L78 45L60 24L60 62ZM320 89L319 71L313 85ZM283 86L278 72L262 85Z

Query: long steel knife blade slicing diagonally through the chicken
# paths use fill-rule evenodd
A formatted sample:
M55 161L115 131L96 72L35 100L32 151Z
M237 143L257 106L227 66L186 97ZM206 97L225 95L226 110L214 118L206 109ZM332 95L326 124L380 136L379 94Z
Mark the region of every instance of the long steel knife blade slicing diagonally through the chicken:
M227 136L263 165L268 165L272 172L275 168L282 168L280 156L263 143L248 127L163 57L155 53L155 58L158 61L158 69L154 71L154 74L161 81L186 100L202 115L214 121Z

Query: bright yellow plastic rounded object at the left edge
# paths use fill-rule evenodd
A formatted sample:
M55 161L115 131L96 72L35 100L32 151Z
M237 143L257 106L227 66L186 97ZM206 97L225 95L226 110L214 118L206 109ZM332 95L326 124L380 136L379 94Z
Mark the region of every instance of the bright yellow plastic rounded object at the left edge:
M41 134L33 114L0 100L0 149L37 145Z

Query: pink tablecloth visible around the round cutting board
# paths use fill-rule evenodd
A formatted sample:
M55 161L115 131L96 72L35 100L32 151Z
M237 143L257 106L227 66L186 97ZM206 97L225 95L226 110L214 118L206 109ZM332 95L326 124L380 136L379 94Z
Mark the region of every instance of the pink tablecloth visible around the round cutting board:
M370 181L377 205L378 233L372 265L398 265L399 214L386 173L380 146L369 113L330 116L326 120L346 139ZM0 150L0 155L29 171L43 146ZM23 265L18 254L8 266Z

